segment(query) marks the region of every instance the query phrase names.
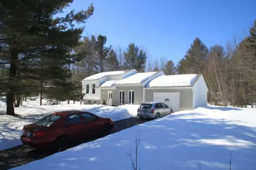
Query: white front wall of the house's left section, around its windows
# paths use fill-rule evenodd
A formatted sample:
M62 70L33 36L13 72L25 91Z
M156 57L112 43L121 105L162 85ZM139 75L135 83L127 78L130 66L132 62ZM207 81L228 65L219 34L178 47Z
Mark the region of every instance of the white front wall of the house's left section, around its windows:
M86 94L87 84L89 84L89 94ZM95 87L99 86L99 82L97 80L82 82L83 93L85 93L85 96L83 97L83 99L100 100L100 93L99 93L100 91L98 89L95 89L95 94L93 94L93 84L95 84Z

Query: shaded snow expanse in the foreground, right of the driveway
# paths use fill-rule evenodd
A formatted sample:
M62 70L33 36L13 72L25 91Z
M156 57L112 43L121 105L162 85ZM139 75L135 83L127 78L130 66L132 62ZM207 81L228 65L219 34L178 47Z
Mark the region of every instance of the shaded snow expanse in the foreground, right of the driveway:
M131 170L141 134L142 170L255 170L256 109L199 107L133 126L16 170Z

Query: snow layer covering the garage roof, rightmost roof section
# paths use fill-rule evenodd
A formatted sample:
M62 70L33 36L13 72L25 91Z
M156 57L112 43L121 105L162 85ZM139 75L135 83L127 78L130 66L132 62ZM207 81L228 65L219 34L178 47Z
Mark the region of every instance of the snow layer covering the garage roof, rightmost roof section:
M153 79L147 87L191 86L197 74L161 75Z

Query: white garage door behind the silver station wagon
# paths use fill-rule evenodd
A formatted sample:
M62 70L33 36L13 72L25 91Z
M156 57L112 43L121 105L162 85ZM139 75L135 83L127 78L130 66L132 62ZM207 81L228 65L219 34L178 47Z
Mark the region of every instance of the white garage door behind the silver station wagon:
M163 102L174 112L180 111L180 93L154 93L154 101Z

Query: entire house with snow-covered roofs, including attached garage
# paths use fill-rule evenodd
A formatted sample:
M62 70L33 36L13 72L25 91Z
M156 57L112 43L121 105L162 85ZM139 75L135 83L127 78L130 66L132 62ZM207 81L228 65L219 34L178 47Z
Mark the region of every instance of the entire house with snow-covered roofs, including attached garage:
M159 101L174 111L207 105L208 88L201 74L165 75L161 71L128 70L99 73L82 82L87 93L84 104L99 104L103 99L107 105L114 106Z

